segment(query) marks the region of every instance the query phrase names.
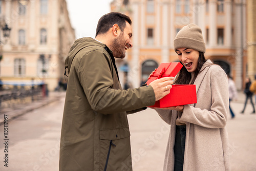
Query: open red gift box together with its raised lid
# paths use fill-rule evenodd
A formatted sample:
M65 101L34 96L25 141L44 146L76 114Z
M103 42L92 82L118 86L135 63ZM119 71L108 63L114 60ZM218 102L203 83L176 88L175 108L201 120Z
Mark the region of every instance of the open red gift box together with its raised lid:
M161 63L156 72L147 80L146 84L162 77L175 77L183 65L180 62ZM151 107L168 108L172 106L197 103L196 85L173 85L170 93L156 101Z

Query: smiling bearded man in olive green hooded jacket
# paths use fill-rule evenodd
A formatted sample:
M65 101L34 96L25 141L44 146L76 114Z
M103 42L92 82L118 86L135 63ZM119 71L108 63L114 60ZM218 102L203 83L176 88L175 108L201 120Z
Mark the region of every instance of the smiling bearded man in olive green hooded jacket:
M59 170L132 170L127 114L153 105L169 93L173 77L149 86L122 90L115 66L132 48L132 22L108 13L98 22L95 39L74 42L66 68L68 88L63 113Z

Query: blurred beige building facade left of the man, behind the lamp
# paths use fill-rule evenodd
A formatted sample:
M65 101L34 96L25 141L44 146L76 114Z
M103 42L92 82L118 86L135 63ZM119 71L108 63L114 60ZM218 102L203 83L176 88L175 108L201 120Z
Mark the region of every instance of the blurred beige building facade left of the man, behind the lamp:
M54 90L75 40L66 1L2 0L0 18L11 28L8 39L1 36L2 81L44 81Z

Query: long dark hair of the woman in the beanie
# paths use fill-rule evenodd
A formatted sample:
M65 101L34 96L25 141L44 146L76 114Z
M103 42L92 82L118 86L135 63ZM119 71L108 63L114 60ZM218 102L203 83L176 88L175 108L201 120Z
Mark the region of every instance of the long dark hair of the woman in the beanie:
M199 52L199 58L198 58L198 65L197 69L194 71L195 75L193 77L193 80L190 82L191 79L191 73L187 71L185 67L182 67L180 72L177 75L177 78L175 79L175 84L194 84L198 74L200 73L200 70L202 66L204 65L204 62L206 62L206 59L204 57L203 52ZM182 64L182 62L180 62ZM211 64L210 64L211 65Z

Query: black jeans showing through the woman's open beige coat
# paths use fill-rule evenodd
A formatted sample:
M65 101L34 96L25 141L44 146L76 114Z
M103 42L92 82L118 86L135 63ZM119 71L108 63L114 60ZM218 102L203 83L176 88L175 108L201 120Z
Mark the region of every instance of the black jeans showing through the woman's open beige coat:
M174 171L183 170L185 140L186 125L176 125L176 136L174 144Z

